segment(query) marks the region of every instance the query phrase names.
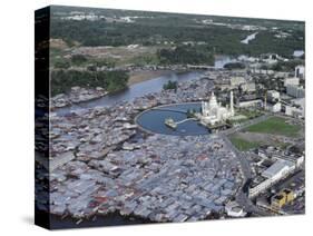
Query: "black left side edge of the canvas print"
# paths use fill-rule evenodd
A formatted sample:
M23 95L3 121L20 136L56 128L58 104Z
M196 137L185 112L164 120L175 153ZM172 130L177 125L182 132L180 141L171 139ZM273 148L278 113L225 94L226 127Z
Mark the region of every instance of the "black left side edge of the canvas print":
M50 7L46 7L35 11L35 225L47 229L51 228L49 197L49 39ZM38 136L38 134L45 131L47 131L45 136ZM38 177L39 171L41 177L43 176L42 179ZM43 189L43 194L38 196L36 189Z

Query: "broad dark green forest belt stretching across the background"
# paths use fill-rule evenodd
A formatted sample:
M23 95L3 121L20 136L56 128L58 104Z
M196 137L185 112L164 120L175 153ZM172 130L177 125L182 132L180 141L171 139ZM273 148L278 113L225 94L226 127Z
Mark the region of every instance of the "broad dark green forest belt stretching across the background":
M254 31L229 29L222 26L173 26L107 22L106 20L59 20L51 21L51 38L61 38L69 45L79 42L82 46L155 46L174 42L179 46L186 41L202 41L203 53L247 55L278 53L291 58L294 50L304 49L303 29L294 29L287 38L274 37L276 32L260 31L256 40L248 45L241 43L247 35Z

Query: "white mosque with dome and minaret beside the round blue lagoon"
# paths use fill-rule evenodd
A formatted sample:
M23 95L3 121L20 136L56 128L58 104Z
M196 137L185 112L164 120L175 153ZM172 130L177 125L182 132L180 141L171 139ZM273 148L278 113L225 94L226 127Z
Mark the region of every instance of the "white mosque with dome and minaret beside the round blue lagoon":
M202 114L199 115L199 119L204 125L214 126L225 121L234 115L233 91L231 91L229 107L222 107L221 102L217 102L214 92L212 92L208 101L202 101Z

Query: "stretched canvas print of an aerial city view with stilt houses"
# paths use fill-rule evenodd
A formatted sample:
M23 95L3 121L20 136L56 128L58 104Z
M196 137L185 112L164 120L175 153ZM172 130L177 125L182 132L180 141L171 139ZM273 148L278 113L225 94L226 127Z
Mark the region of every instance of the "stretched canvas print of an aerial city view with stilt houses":
M51 228L305 213L304 22L49 9Z

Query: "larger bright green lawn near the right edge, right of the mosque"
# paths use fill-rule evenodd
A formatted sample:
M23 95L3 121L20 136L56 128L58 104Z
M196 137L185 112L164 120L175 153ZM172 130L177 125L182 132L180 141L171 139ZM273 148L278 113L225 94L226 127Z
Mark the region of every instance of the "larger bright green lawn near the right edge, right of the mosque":
M286 124L285 121L286 119L281 117L271 117L267 120L247 127L245 131L296 137L301 127Z

